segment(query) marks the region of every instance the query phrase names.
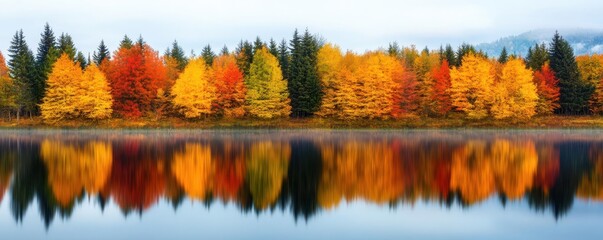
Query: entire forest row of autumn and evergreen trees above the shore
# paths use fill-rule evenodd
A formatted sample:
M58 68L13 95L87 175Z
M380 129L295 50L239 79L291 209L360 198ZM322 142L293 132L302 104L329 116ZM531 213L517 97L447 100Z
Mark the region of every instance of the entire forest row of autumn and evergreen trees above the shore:
M603 113L603 55L574 56L558 33L527 56L490 57L469 44L436 50L396 42L356 53L297 30L290 40L243 41L187 56L127 35L92 56L46 24L34 52L22 30L0 52L2 121L107 119L408 118L527 121Z

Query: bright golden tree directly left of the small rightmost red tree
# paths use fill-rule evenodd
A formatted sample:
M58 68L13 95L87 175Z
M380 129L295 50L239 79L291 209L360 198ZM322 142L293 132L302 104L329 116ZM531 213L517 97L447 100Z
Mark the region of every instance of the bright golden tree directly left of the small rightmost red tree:
M494 118L529 119L536 114L538 93L532 78L532 70L523 60L515 58L504 64L493 91Z

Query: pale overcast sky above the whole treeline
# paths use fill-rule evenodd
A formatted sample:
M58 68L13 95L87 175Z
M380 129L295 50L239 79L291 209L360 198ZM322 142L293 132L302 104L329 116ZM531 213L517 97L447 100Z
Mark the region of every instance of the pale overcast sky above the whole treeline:
M362 52L398 41L439 47L490 42L541 28L603 27L601 0L0 0L0 51L23 29L35 52L46 22L92 52L115 50L124 34L163 52L178 40L187 53L218 51L241 39L289 39L308 28L343 49Z

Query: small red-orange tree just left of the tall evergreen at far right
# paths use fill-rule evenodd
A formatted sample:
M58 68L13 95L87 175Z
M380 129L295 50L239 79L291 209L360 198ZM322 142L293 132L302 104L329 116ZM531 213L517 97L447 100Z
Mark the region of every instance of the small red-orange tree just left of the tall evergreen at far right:
M537 114L552 114L559 108L559 81L548 63L534 72L534 84L538 92Z

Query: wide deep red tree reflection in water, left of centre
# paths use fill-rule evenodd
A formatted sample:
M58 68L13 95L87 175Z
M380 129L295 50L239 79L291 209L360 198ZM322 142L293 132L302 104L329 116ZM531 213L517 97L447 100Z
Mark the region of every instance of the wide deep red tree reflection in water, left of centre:
M132 141L114 147L108 193L122 209L147 209L164 193L164 163L153 148Z

